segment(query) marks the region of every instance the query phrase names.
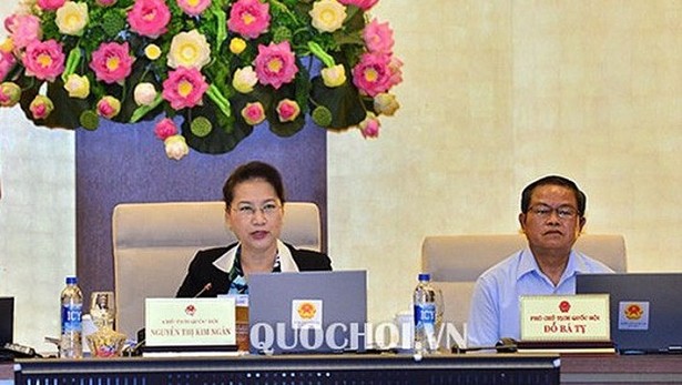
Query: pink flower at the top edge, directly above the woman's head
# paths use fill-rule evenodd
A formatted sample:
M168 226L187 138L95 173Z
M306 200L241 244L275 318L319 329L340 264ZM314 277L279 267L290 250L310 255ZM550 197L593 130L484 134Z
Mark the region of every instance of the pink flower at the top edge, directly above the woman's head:
M237 0L230 10L227 28L243 37L255 39L269 27L269 4L259 0Z

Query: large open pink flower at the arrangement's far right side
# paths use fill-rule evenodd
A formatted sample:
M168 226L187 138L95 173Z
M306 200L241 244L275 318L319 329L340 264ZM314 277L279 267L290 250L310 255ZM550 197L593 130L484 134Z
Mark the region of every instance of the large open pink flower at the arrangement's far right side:
M386 53L364 53L353 68L353 83L370 97L386 92L391 85L390 57Z

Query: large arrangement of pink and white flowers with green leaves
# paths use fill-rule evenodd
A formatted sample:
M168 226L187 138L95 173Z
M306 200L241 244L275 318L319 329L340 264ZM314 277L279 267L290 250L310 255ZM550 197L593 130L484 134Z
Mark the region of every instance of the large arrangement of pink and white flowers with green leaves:
M4 20L0 105L72 130L163 115L154 134L173 159L228 152L265 121L289 136L307 115L376 138L403 65L368 13L377 2L21 0Z

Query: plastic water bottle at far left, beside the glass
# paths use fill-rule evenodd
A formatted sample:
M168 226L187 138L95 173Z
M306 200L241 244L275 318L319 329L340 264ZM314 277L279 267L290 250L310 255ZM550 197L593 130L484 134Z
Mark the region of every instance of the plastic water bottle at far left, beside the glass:
M67 277L67 287L61 294L62 334L59 343L59 356L62 358L83 357L83 293L75 276Z

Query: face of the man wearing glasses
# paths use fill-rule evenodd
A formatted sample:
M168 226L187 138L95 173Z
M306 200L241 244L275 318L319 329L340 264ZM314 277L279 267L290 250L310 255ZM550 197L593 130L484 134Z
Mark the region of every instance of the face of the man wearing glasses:
M560 185L541 185L532 191L527 213L519 214L521 229L533 251L570 252L584 217L578 213L572 190Z

